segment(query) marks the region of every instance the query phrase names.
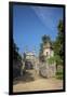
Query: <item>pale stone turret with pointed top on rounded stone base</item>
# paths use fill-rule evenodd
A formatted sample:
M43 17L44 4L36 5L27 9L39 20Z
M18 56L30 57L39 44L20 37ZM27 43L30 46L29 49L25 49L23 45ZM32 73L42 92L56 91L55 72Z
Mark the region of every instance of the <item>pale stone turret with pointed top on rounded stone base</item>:
M43 53L42 56L44 57L43 63L40 65L40 74L44 78L55 77L56 73L56 65L55 63L49 64L48 58L54 56L53 48L51 44L48 42L43 45Z

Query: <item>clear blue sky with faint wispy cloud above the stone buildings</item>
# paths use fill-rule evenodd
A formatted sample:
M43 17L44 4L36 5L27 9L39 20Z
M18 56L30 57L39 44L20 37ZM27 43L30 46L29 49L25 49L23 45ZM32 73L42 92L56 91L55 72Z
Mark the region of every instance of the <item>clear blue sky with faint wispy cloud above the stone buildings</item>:
M13 39L23 54L35 51L39 54L42 36L50 36L54 41L57 36L57 25L63 19L63 8L53 6L13 6Z

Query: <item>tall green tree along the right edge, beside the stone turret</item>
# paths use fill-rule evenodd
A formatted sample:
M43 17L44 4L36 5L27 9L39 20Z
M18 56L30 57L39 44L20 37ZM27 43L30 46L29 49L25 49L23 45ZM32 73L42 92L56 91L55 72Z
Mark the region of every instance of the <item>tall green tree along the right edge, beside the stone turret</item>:
M63 20L59 20L57 29L58 29L58 33L54 42L54 53L55 55L59 56L61 57L59 60L64 63L64 52L65 51L64 51L64 23ZM57 61L57 64L59 63Z

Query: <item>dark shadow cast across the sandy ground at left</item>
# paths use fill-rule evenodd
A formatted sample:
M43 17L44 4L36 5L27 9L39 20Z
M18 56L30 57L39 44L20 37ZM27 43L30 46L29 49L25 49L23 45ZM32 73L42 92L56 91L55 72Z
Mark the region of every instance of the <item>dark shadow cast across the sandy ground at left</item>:
M13 80L13 85L18 84L21 82L27 83L30 81L35 81L35 78L32 77L32 74L30 72L26 71L23 77L18 77L18 78Z

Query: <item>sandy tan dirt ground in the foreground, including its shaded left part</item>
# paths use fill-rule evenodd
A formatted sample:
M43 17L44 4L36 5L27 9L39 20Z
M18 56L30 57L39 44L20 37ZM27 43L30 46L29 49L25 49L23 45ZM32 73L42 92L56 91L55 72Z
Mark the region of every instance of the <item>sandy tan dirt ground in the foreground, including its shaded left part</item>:
M36 77L36 75L35 75ZM13 82L13 92L63 89L63 80L55 78L34 78L30 73L19 77Z

